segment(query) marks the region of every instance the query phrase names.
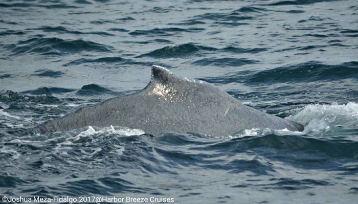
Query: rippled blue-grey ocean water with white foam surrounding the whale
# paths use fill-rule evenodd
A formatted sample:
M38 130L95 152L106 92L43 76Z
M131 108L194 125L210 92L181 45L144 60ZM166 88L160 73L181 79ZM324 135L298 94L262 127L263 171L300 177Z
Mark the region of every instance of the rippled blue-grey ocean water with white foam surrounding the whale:
M1 1L2 202L355 203L357 37L355 0ZM152 64L305 129L21 133L142 89Z

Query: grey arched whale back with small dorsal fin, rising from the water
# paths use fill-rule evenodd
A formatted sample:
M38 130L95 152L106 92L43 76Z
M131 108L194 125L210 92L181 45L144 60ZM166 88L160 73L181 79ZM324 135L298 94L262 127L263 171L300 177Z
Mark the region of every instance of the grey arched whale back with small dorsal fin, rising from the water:
M110 125L142 129L153 135L191 132L222 136L252 128L303 130L301 124L243 105L210 83L178 76L156 65L151 72L144 89L49 120L35 127L35 132Z

